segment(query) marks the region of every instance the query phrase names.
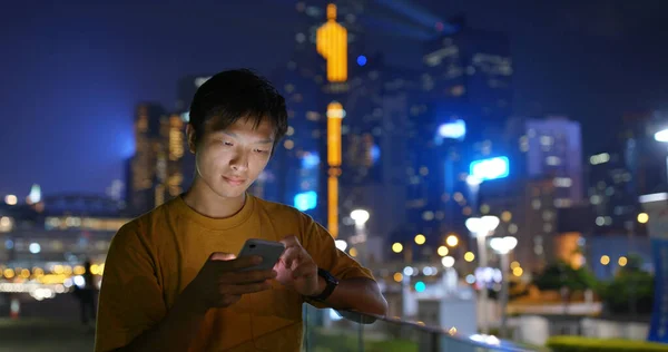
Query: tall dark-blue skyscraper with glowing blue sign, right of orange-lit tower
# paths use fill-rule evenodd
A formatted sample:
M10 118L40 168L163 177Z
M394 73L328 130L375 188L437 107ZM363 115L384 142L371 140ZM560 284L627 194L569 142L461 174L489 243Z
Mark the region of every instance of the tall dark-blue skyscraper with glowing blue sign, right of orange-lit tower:
M479 215L482 205L466 184L469 166L504 155L501 127L512 97L504 33L464 23L440 27L449 30L424 43L423 66L415 75L420 92L410 100L410 165L404 168L407 231L410 236L423 233L429 245L442 244L450 233L468 238L462 236L464 221Z

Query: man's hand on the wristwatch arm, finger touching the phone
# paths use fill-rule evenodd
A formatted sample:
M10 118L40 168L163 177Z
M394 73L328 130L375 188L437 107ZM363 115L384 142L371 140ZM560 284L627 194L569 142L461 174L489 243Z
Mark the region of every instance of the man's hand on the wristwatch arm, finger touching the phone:
M308 255L308 252L302 247L294 235L286 236L281 242L285 244L285 252L274 266L274 270L278 273L276 280L301 295L313 296L320 294L317 265Z

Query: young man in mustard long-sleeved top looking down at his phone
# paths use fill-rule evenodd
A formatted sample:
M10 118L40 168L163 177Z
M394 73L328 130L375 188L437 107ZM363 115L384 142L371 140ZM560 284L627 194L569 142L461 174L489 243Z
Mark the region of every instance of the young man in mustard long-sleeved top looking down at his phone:
M246 193L287 130L284 98L248 70L195 94L187 127L196 177L181 196L122 226L99 299L96 351L298 351L302 303L385 314L369 270L307 215ZM281 241L266 272L247 238Z

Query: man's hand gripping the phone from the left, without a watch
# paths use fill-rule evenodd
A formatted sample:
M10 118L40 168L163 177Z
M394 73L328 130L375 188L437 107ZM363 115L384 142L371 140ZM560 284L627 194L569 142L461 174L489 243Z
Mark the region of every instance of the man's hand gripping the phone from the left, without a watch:
M187 293L190 303L198 311L227 307L239 301L246 293L262 292L272 287L271 280L276 277L275 271L240 271L261 262L259 256L236 258L234 254L215 252L184 293Z

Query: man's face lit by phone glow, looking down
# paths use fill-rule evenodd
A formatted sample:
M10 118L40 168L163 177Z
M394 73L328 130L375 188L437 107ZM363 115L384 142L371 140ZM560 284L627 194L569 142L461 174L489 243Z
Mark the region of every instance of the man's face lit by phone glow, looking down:
M224 130L206 131L197 145L197 175L220 197L242 196L269 162L274 128L254 123L240 118Z

